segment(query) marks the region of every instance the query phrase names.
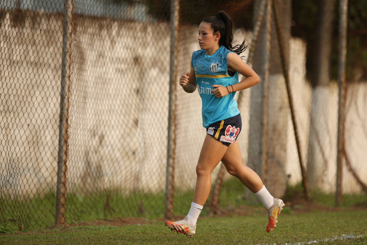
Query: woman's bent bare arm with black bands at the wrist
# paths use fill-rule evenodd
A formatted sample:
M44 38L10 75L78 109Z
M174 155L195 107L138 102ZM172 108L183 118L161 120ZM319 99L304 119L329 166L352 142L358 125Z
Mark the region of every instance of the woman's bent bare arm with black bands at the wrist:
M229 94L229 92L232 93L234 91L247 89L260 82L260 78L256 72L254 72L250 66L243 62L238 54L228 53L227 61L227 68L230 71L237 71L238 73L246 76L246 78L239 83L233 84L232 86L225 87L221 85L212 85L212 87L215 89L213 89L211 93L214 94L215 97L221 98Z

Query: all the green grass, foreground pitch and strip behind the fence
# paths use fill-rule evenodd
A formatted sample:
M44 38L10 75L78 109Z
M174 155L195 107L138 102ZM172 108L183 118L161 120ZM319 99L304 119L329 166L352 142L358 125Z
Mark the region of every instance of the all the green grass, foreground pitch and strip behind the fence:
M176 217L172 220L185 217L192 197L193 191L175 192ZM219 198L221 215L209 217L208 202L200 214L196 234L186 238L164 226L163 193L143 196L132 194L128 197L115 195L110 200L114 210L112 213L103 212L105 193L82 199L69 195L66 212L68 225L50 229L54 222L54 199L51 193L42 199L34 198L22 203L6 202L5 207L17 207L19 211L2 210L5 216L0 217L0 244L367 243L366 194L343 195L339 208L334 206L333 194L312 192L311 197L312 202L305 202L301 184L288 187L283 198L287 206L281 212L278 227L274 232L266 233L266 209L254 195L245 198L244 186L240 181L228 180L223 183ZM139 212L139 200L144 201L141 203L144 212ZM17 217L21 217L24 223ZM354 238L340 239L343 234L350 233L353 233Z

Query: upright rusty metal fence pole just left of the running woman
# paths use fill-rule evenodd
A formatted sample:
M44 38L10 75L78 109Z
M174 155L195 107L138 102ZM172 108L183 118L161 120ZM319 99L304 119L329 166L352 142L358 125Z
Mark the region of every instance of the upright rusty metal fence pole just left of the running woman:
M170 55L170 95L168 107L168 146L167 146L167 176L166 200L164 216L173 216L174 166L176 147L176 97L177 97L177 54L178 54L178 18L179 0L171 0L171 55Z

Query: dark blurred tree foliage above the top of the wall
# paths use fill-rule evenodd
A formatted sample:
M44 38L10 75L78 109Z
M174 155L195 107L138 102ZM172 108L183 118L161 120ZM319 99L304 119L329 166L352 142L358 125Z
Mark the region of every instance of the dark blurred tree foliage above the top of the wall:
M170 0L110 0L115 3L143 3L148 7L150 14L157 21L170 20ZM233 18L235 27L247 30L253 28L253 0L211 0L180 1L180 24L199 25L207 16L224 10ZM313 45L317 39L316 26L319 0L292 1L292 36L300 37L307 43L307 71L312 71ZM367 1L348 1L348 40L346 57L346 79L367 79ZM331 79L336 80L338 75L338 26L339 0L335 1L333 42L331 51ZM308 73L309 77L310 74ZM356 77L359 76L359 77Z

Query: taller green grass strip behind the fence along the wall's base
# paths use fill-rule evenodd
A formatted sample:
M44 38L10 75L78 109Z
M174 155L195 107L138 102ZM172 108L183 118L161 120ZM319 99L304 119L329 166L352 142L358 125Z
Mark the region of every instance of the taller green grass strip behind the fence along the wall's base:
M213 189L214 187L212 187ZM118 190L109 191L109 209L106 209L108 191L92 193L84 196L68 194L66 198L65 218L68 224L78 224L91 220L116 220L125 217L142 217L159 219L164 217L165 193L131 193L124 196ZM219 196L219 206L224 212L233 212L237 207L262 207L258 199L250 194L245 197L245 187L236 178L224 181ZM211 192L212 194L212 192ZM193 190L175 191L174 215L187 215L194 195ZM288 186L283 200L291 201L293 208L304 205L302 185ZM312 192L313 203L323 206L334 206L334 194ZM209 214L209 196L200 217ZM366 194L345 194L341 207L362 206L367 208ZM0 199L0 227L8 227L13 231L33 231L48 228L55 222L55 194L47 193L42 197L34 197L25 201L12 201L10 198ZM1 228L0 228L1 233Z

